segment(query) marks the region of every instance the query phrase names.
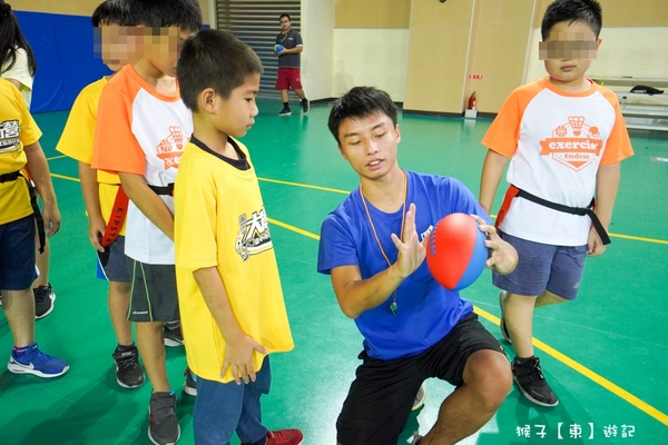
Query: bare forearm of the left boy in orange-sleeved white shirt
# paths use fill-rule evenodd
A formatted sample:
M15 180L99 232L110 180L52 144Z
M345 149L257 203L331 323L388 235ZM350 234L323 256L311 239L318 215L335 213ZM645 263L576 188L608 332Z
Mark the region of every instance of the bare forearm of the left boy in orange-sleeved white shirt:
M144 176L119 172L120 184L135 206L174 241L174 215L169 207L153 191Z

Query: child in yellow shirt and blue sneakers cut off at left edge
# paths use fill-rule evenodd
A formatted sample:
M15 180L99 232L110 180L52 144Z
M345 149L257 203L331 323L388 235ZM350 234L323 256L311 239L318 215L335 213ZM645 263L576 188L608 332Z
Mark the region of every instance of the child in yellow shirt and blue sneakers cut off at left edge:
M45 228L47 236L60 229L60 212L40 137L19 90L0 79L0 290L13 338L7 368L14 374L51 378L67 373L69 366L43 354L35 343L35 222L41 244ZM23 175L24 167L42 198L41 215L36 191Z

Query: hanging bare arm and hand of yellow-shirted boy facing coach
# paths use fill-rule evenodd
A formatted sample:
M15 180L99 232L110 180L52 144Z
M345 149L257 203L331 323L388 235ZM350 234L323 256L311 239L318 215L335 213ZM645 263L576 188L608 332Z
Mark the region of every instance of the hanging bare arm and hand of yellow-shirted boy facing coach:
M216 267L197 269L193 275L204 296L206 306L214 316L218 329L220 329L220 334L223 334L223 338L225 338L225 343L227 344L220 377L225 376L227 367L230 366L232 375L237 385L242 384L242 379L245 383L248 383L248 379L255 382L253 350L257 350L261 354L267 354L267 350L239 328L229 307L223 279L220 279Z

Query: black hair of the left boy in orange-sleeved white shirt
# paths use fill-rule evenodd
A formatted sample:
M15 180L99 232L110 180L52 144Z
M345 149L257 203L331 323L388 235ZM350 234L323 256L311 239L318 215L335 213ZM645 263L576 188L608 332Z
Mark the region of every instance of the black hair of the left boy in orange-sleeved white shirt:
M197 0L127 0L132 24L147 28L178 27L202 29L202 9Z

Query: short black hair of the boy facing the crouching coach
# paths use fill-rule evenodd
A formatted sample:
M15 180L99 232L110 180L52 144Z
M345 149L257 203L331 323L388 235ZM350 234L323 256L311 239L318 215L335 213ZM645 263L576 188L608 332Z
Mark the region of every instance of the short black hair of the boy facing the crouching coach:
M204 89L213 88L227 99L248 76L262 72L262 62L249 46L216 29L188 38L176 66L181 99L193 111L197 111L197 97Z

